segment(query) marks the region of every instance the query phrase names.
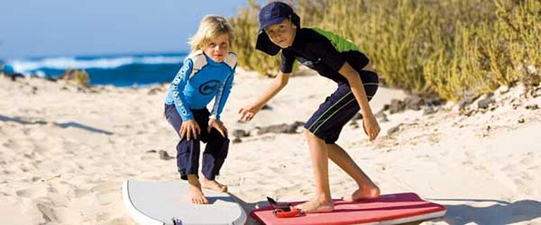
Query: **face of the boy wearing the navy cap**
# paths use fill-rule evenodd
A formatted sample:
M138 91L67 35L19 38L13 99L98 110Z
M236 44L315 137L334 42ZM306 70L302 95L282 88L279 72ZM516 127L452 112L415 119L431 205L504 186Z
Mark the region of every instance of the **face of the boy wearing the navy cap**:
M297 27L291 23L291 20L285 19L281 23L265 27L265 33L267 33L272 43L286 49L293 44L296 29Z

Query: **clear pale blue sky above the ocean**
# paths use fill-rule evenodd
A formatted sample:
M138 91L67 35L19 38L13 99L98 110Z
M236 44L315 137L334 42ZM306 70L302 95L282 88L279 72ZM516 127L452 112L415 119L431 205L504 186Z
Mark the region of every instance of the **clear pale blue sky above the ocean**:
M0 58L189 51L207 14L247 0L1 0Z

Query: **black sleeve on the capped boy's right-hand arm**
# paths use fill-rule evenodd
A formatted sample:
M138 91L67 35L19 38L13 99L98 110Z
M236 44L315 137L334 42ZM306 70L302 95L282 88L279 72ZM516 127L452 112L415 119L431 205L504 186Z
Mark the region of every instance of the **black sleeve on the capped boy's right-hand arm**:
M327 64L336 72L346 63L346 59L334 48L331 41L324 37L314 39L308 49L314 57L320 59L322 63Z

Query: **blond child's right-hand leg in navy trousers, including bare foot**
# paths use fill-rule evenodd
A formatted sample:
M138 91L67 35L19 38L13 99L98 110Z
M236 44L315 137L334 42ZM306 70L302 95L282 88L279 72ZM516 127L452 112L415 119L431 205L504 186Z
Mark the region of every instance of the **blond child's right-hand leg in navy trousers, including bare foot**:
M219 184L216 181L216 176L219 174L221 166L224 165L228 151L229 139L221 136L216 129L212 129L203 152L203 176L200 178L203 188L227 192L227 186Z

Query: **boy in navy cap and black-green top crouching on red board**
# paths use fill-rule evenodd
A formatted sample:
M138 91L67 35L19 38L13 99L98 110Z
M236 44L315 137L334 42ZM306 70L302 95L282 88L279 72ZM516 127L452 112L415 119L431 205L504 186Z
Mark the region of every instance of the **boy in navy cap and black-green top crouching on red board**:
M363 115L365 134L371 141L379 134L379 124L368 104L377 91L378 79L377 74L368 69L368 58L351 41L332 32L301 28L300 18L287 4L267 4L260 11L259 21L256 49L272 56L281 50L281 72L255 103L241 109L241 120L252 120L262 106L286 86L294 60L337 84L336 91L325 99L304 125L315 175L316 196L296 207L308 213L334 210L329 187L329 158L358 184L358 190L348 199L376 198L379 188L335 143L342 127L359 110Z

